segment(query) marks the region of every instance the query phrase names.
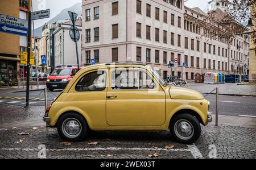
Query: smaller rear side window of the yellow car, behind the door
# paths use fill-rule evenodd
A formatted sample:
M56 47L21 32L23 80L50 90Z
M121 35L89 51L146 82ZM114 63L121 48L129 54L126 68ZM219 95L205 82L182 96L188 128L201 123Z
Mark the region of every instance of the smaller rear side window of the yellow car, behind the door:
M106 72L90 72L83 76L76 85L77 92L103 91L106 88Z

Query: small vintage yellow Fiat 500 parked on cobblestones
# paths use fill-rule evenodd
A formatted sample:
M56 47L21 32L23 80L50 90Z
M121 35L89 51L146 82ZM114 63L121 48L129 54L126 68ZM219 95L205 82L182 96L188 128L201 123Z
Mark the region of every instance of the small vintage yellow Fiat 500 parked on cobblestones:
M98 64L81 69L43 119L61 138L79 142L93 131L166 131L195 142L212 121L209 102L193 90L168 86L153 67Z

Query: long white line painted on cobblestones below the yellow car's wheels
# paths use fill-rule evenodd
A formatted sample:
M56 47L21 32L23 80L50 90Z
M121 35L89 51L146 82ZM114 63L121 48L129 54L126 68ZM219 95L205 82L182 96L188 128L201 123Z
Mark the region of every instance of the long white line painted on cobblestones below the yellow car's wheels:
M38 151L38 148L1 148L2 151ZM189 149L166 149L166 148L122 148L122 147L108 147L108 148L64 148L64 149L46 149L46 151L191 151Z

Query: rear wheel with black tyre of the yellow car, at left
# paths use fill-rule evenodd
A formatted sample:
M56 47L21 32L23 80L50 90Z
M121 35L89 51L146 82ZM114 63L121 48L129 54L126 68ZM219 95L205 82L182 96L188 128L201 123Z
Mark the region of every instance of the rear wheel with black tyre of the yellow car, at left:
M68 142L81 142L88 134L88 128L85 118L77 113L64 114L57 122L59 135Z

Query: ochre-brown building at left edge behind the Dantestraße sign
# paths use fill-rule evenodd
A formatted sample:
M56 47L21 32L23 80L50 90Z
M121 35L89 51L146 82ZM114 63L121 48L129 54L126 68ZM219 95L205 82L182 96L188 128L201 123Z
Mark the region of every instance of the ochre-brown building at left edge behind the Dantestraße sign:
M27 19L30 0L0 1L0 14ZM26 77L26 65L20 65L20 52L27 52L27 37L0 32L0 81Z

